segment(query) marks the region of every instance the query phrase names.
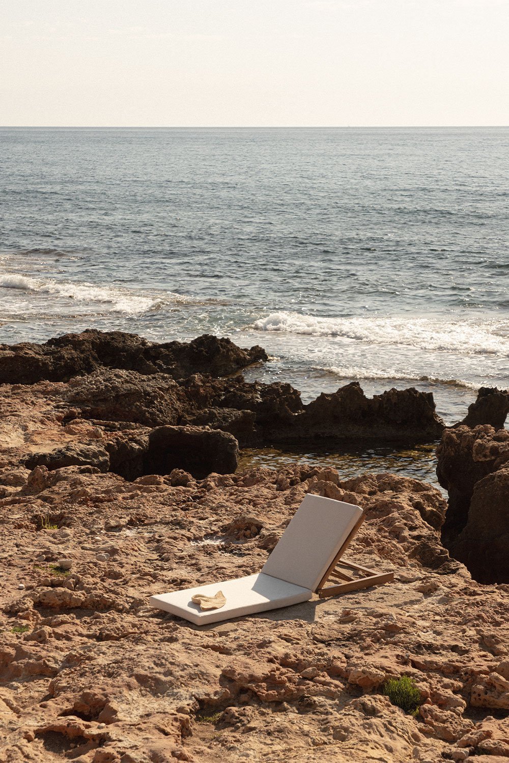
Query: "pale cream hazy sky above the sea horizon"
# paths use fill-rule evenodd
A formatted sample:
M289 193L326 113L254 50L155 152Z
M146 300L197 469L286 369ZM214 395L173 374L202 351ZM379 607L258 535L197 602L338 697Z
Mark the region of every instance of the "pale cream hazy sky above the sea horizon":
M509 0L1 0L0 124L509 124Z

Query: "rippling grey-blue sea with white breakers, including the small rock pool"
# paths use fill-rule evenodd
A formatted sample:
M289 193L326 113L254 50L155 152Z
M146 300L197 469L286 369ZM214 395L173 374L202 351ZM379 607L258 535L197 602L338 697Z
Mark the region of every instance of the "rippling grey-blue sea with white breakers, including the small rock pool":
M262 345L304 402L509 386L509 128L0 128L0 342ZM434 479L433 446L244 454ZM246 462L247 463L247 462Z

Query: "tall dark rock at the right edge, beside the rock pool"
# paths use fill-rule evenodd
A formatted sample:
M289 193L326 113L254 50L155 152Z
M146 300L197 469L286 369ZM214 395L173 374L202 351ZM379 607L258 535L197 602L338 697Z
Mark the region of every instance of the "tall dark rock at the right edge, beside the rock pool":
M509 581L509 432L488 424L443 433L437 476L449 493L442 540L483 582ZM506 477L504 477L506 475ZM498 537L498 540L496 540ZM502 550L504 549L504 550Z

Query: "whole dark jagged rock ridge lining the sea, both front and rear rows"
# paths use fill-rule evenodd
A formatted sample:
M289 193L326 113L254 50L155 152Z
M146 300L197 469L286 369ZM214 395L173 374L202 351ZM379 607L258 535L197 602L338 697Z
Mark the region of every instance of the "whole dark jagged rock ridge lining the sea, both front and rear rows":
M0 383L68 381L60 394L65 420L139 423L147 427L209 426L240 446L341 441L433 442L445 425L433 395L391 389L366 398L358 382L308 405L288 384L228 376L266 359L260 347L226 339L149 343L134 334L85 331L43 345L0 346Z

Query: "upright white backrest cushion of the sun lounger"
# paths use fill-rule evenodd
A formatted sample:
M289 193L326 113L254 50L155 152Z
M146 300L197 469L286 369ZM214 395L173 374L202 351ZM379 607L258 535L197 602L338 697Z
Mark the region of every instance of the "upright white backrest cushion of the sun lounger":
M315 591L362 509L308 493L262 572Z

